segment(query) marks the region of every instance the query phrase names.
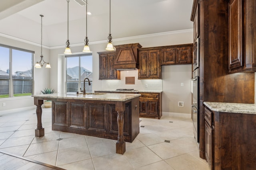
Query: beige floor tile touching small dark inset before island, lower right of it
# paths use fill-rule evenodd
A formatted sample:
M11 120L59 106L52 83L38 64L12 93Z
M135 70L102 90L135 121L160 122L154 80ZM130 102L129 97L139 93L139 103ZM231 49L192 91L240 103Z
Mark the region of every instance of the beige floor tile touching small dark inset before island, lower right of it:
M86 145L86 147L87 147L85 137L78 136L78 137L62 139L60 141L59 149L68 149L68 148L72 148L72 147L80 147L83 145Z

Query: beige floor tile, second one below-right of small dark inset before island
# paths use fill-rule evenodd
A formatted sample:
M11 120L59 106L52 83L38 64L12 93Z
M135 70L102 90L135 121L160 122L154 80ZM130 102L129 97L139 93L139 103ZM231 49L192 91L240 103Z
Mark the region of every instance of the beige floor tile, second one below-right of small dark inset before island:
M87 146L80 146L58 151L56 166L91 159Z

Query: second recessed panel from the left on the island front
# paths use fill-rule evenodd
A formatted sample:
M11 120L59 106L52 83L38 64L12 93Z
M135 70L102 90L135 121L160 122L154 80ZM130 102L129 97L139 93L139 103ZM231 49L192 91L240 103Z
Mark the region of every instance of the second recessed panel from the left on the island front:
M86 128L86 104L70 103L70 127Z

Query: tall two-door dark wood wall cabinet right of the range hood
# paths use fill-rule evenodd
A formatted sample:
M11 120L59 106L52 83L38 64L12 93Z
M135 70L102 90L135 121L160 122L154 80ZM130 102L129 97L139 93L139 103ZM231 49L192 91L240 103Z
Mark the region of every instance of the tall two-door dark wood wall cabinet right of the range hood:
M138 79L162 79L160 49L143 48L138 51Z

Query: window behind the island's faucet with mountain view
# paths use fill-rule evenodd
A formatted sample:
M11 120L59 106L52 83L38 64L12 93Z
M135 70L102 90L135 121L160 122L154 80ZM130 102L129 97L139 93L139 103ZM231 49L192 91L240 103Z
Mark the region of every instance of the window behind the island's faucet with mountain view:
M92 54L66 56L66 92L80 92L84 89L92 90Z

